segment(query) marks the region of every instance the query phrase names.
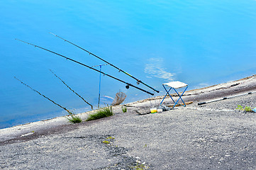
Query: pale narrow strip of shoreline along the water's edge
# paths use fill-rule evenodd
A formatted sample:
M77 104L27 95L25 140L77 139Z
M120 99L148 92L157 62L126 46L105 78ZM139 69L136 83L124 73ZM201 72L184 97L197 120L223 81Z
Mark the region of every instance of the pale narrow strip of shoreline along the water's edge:
M223 84L216 84L213 86L204 87L201 89L191 89L184 93L182 97L184 101L193 101L199 103L201 101L211 100L213 98L221 98L226 96L232 96L235 94L242 94L244 92L256 91L256 74L243 79L235 81L228 81ZM135 101L127 103L126 106L138 107L138 108L150 108L158 106L162 101L163 96L155 96L153 98L146 98L141 101ZM154 101L154 102L152 102ZM166 98L165 103L169 103L170 99ZM113 106L113 112L115 114L122 113L121 106ZM128 108L129 109L129 108ZM79 113L82 120L87 118L90 113L95 111L89 111L86 113ZM0 145L4 143L13 143L18 141L26 141L31 138L37 138L42 135L50 135L55 132L65 132L67 130L74 130L80 125L90 125L91 122L82 122L79 124L68 123L67 116L61 116L48 120L40 120L33 123L26 123L22 125L15 125L11 128L0 129ZM101 121L101 120L94 120Z

